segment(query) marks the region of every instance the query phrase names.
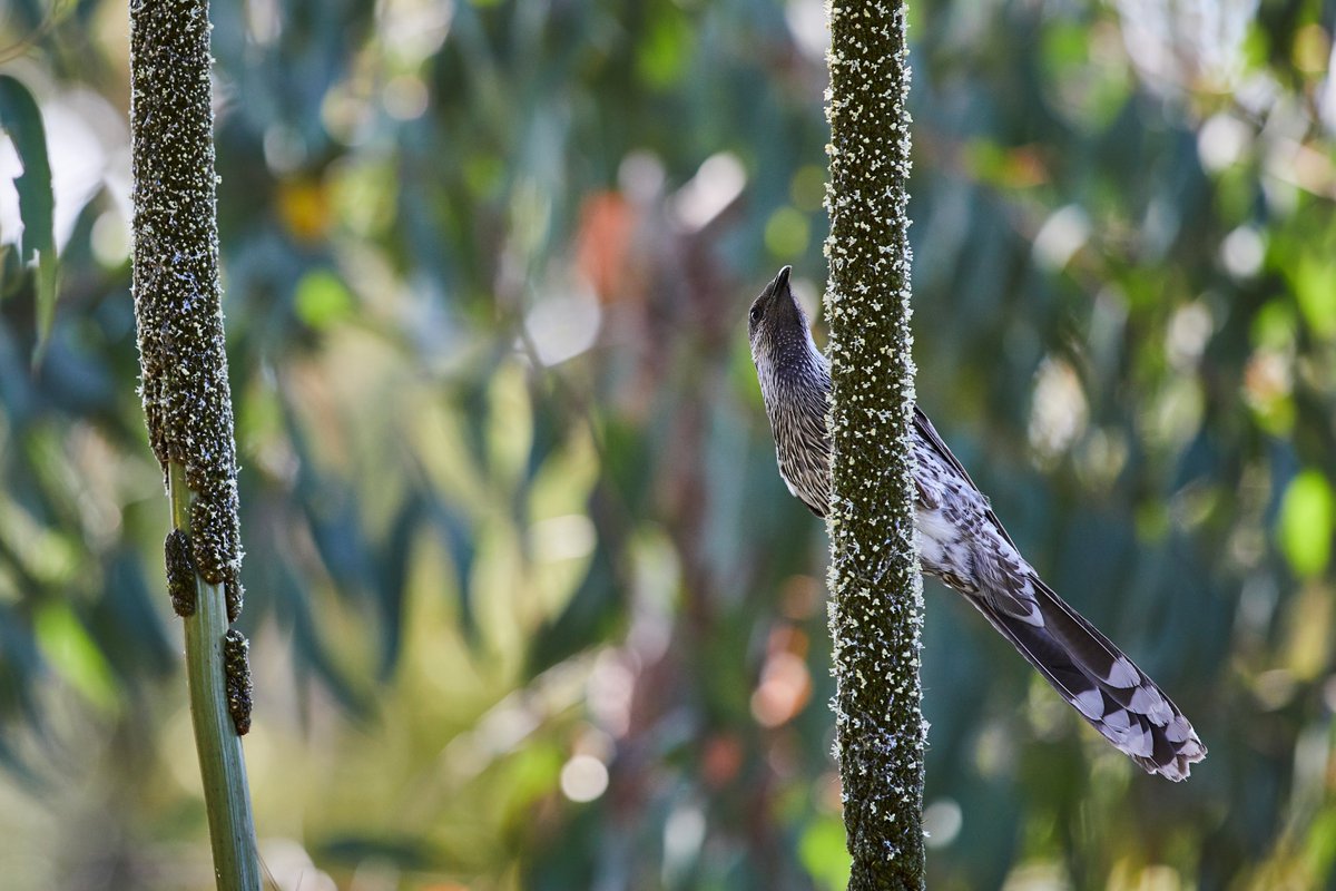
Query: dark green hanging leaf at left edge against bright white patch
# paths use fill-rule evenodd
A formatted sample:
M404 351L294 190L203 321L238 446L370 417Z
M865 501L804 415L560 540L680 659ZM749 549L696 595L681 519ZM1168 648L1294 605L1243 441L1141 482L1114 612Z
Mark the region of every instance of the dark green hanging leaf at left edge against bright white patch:
M23 216L19 256L25 264L37 263L37 346L32 351L32 365L37 366L56 314L55 196L41 111L28 88L8 75L0 75L0 130L9 134L23 162L23 174L13 184Z

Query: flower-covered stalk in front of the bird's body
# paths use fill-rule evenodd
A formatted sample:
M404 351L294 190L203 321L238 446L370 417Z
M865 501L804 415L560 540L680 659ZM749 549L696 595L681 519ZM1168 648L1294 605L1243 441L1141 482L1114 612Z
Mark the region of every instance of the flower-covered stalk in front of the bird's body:
M831 636L851 890L925 887L903 0L830 0Z

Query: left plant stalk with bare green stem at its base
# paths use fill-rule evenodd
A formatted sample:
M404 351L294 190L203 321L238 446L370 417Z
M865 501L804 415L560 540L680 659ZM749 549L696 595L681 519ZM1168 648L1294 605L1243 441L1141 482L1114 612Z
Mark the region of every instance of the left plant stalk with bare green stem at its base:
M148 439L171 500L168 586L186 625L214 872L220 891L259 891L223 659L224 636L240 612L240 528L218 279L208 33L207 0L130 4L135 322Z

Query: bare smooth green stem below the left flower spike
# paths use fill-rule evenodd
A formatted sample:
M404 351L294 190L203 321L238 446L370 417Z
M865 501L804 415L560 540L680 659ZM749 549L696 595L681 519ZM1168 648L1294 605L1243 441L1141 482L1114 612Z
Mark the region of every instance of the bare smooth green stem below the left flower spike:
M168 466L171 521L176 529L188 532L190 504L195 496L186 486L184 468ZM214 844L214 876L219 891L259 891L259 851L255 850L246 760L223 685L223 635L227 633L223 586L210 585L196 576L195 614L184 622L190 716Z

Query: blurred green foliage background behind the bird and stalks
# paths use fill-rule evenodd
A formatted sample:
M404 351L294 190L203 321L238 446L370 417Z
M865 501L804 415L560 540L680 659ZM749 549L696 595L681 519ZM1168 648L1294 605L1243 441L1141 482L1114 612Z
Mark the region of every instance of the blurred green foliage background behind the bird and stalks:
M839 888L824 529L745 345L819 299L820 0L216 3L246 749L277 887ZM1210 747L1094 739L929 582L933 888L1336 882L1331 0L911 11L921 402ZM0 864L211 887L135 395L123 3L9 0Z

